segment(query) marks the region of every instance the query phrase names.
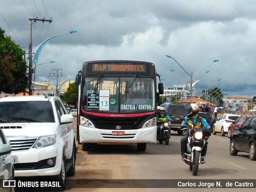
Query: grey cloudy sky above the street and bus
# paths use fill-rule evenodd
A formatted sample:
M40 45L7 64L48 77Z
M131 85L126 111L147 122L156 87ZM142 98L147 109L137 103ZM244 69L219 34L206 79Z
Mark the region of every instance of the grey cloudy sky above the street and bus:
M32 24L33 52L56 34L78 31L45 46L36 81L56 85L52 69L62 69L58 81L74 79L85 61L138 60L155 63L160 75L169 71L162 77L165 89L186 84L193 73L198 95L212 85L229 97L256 96L254 0L1 1L0 27L27 52L29 19L36 17L52 22Z

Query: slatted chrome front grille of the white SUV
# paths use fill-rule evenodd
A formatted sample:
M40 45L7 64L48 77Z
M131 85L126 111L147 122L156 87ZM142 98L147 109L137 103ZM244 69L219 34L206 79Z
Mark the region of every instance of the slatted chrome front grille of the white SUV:
M22 151L29 150L36 142L38 137L19 137L17 139L11 137L8 139L10 141L10 145L12 146L12 151Z

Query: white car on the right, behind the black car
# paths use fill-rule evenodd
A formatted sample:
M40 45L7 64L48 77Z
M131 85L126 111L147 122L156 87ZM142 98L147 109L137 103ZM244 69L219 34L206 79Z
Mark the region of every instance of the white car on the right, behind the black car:
M216 123L213 125L213 135L220 133L221 136L224 136L228 133L228 127L233 123L240 115L227 114L224 113Z

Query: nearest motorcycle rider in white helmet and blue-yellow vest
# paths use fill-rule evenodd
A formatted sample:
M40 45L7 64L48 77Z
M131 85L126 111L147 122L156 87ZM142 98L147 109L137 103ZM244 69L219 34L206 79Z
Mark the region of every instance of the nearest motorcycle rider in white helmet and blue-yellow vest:
M185 117L184 121L181 124L181 129L183 129L186 126L191 127L203 127L203 135L205 139L207 140L209 136L211 135L209 129L211 129L210 125L206 122L206 120L203 117L198 116L199 107L195 103L191 103L186 105L185 107L188 110L188 114ZM188 143L188 136L190 135L190 130L188 129L185 132L185 135L180 140L180 148L181 148L181 159L184 160L186 158L185 153L187 152L187 143ZM201 156L206 156L207 151L207 144L208 142L204 144L204 147L202 148Z

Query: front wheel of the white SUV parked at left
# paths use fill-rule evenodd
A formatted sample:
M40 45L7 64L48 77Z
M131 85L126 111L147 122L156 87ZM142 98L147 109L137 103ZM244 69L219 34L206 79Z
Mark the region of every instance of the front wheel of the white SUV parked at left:
M67 172L66 172L66 157L62 156L62 164L60 174L52 176L53 180L60 180L60 187L51 188L51 191L63 191L66 189L67 184Z

